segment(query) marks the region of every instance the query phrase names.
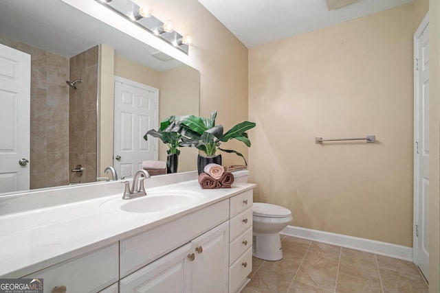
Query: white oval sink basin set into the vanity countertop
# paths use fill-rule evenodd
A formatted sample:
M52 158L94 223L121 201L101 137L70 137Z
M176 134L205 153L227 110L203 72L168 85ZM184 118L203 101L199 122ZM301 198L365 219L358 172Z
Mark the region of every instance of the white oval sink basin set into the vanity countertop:
M146 191L146 196L131 200L111 200L119 209L131 213L157 213L186 207L201 200L202 195L195 191ZM112 204L112 205L113 205Z

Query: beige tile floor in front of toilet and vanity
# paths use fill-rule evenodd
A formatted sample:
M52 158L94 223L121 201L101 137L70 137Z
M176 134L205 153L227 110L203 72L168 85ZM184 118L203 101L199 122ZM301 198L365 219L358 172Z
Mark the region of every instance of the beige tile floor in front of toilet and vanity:
M251 281L241 293L428 292L410 261L281 236L283 259L254 257Z

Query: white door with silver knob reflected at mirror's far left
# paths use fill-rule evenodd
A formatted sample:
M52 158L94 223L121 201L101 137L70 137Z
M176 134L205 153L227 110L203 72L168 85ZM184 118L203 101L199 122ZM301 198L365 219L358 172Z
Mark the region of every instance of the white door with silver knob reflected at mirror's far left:
M0 44L0 193L29 189L30 55ZM19 164L22 161L23 165Z

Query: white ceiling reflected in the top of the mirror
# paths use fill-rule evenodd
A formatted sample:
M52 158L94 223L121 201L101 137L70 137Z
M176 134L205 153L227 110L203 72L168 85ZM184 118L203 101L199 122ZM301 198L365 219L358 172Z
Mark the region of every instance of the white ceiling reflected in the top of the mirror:
M0 1L0 36L67 58L106 44L115 54L157 71L182 65L177 60L154 58L151 52L157 49L59 0Z

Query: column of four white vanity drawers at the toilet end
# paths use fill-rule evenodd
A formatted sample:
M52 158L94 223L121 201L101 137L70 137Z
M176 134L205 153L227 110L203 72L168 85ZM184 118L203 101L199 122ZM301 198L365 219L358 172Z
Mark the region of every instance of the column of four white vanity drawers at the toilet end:
M230 198L230 293L241 290L252 271L252 202L252 189Z

